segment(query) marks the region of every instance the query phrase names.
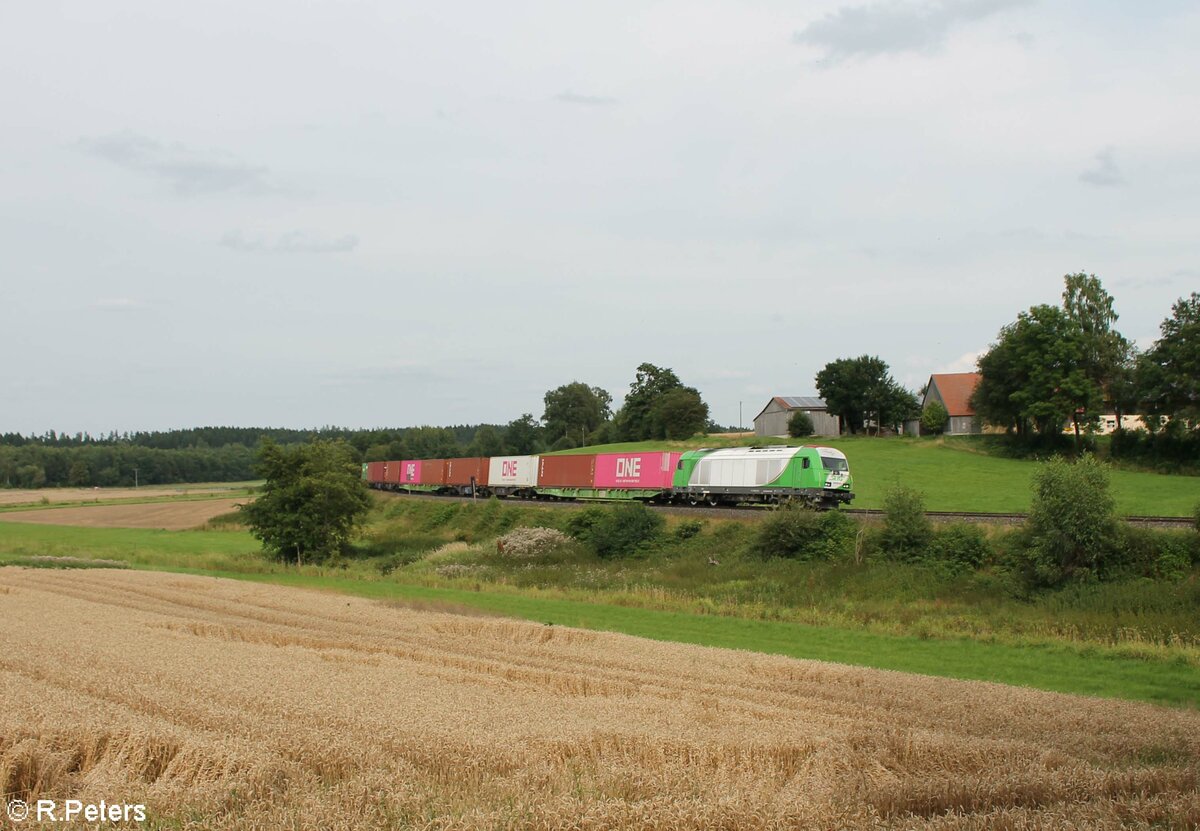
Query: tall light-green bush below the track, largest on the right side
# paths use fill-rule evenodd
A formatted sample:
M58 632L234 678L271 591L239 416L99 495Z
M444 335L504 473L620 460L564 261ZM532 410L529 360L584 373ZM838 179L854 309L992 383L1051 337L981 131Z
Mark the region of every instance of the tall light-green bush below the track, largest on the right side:
M1114 564L1118 537L1108 467L1092 455L1043 464L1033 476L1026 534L1024 566L1031 585L1102 575Z

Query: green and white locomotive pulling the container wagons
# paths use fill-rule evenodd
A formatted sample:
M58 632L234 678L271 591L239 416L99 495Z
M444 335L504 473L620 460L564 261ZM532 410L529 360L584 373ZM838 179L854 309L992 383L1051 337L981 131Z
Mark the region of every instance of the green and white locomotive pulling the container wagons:
M691 504L802 502L835 508L854 498L850 465L832 447L744 447L688 450L672 486Z

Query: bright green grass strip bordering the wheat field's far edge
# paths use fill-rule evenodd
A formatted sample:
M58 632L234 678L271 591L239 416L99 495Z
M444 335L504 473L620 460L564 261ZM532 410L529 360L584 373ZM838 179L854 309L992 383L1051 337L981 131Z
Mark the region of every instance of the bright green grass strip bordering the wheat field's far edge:
M443 506L421 510L445 514ZM455 524L442 521L437 527L449 537ZM440 539L432 538L431 545L440 545ZM236 528L173 532L0 522L0 564L30 556L118 560L134 568L276 582L416 603L434 609L467 606L556 626L623 632L658 640L1175 706L1200 706L1200 660L1195 659L1194 650L1130 651L1086 640L1020 644L929 636L928 633L889 634L862 626L811 626L791 620L763 620L756 616L762 609L754 604L748 604L742 615L737 614L736 605L722 608L720 614L696 614L670 608L672 598L679 599L678 593L664 594L654 590L638 596L628 591L568 591L481 580L430 585L431 572L422 570L420 561L414 564L414 570L397 569L388 575L356 562L346 563L346 568L298 569L265 560L257 540ZM781 576L780 573L774 574L775 579ZM908 575L908 580L919 582L920 574ZM874 585L886 591L883 586L895 582L884 575ZM660 608L654 608L655 598L661 602Z

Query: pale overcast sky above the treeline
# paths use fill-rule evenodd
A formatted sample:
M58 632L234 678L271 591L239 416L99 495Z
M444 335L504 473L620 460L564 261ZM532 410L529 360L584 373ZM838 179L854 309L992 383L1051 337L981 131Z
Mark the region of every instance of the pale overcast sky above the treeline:
M1194 2L0 5L0 432L721 424L1200 289ZM740 414L739 414L740 413Z

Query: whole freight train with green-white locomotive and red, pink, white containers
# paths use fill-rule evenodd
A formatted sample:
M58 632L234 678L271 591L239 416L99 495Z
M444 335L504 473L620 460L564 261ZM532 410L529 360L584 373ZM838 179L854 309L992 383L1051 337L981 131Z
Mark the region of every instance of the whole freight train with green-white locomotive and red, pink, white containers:
M530 500L836 508L854 498L846 456L832 447L371 461L362 478L380 490Z

